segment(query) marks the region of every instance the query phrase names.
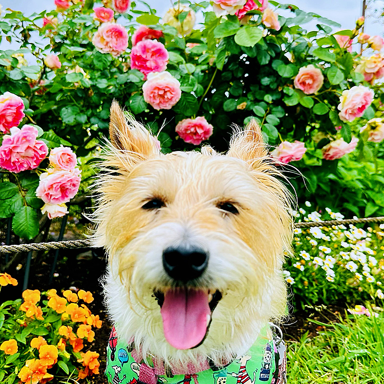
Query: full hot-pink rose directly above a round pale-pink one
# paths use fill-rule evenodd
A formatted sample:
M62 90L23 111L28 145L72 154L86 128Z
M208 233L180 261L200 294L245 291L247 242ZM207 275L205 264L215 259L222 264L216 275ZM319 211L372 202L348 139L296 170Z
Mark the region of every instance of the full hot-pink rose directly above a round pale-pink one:
M168 51L161 42L156 40L141 40L131 51L131 68L138 69L144 74L162 72L167 68Z

